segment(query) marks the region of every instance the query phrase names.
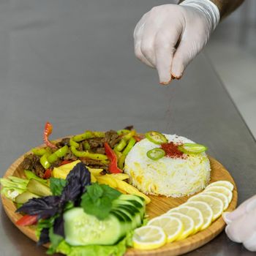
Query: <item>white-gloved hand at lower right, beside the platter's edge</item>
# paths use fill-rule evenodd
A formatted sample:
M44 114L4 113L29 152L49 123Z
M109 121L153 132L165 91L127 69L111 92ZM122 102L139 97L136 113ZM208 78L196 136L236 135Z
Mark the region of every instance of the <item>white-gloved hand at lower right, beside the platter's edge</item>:
M246 249L256 252L256 195L246 200L235 211L223 214L227 223L227 236L243 243Z

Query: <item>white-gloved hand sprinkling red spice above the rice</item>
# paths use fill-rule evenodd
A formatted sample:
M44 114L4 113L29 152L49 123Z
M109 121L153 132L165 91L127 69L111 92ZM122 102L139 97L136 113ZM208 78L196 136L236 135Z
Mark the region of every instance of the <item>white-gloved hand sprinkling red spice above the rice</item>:
M154 7L135 27L135 55L157 68L160 83L170 83L181 78L218 23L219 9L209 0Z

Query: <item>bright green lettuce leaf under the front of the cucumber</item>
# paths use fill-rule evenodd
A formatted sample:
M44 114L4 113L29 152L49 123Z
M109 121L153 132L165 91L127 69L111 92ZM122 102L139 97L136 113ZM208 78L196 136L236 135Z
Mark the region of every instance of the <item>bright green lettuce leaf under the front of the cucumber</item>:
M71 246L66 241L61 241L56 252L68 256L121 256L127 251L127 247L132 246L132 235L133 231L127 233L127 236L114 245Z

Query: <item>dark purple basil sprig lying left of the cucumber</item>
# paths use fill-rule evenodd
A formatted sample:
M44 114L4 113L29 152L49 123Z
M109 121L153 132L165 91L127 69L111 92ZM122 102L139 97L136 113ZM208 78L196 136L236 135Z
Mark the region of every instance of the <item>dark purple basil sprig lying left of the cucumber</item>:
M50 225L43 227L38 244L46 244L51 241L54 234L64 238L63 213L72 206L80 205L80 197L86 192L86 187L91 184L91 173L82 162L75 165L66 178L66 185L63 181L52 180L51 190L53 195L41 198L32 198L16 212L23 212L29 215L38 215L38 219L51 219ZM54 195L55 194L55 195ZM53 228L53 230L52 230ZM59 237L56 239L60 241ZM53 243L56 246L56 243ZM54 249L50 250L53 252Z

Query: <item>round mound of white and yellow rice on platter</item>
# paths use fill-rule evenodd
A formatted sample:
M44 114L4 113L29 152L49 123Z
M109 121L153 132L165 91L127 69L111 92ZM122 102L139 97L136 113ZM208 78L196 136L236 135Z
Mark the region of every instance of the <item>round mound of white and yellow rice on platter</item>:
M165 135L168 142L193 143L177 135ZM151 195L181 197L204 189L210 180L211 167L206 153L184 158L162 157L157 161L146 156L147 151L158 148L148 139L136 143L127 155L124 172L133 186Z

